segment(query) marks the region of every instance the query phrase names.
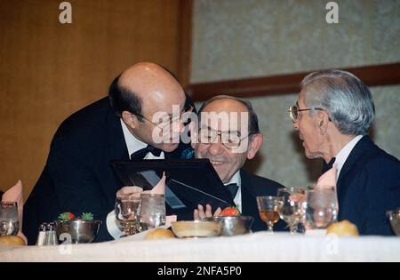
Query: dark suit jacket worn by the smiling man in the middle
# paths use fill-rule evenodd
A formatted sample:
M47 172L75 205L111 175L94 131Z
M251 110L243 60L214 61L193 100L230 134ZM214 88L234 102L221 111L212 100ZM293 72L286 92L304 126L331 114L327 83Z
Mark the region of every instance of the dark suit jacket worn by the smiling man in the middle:
M244 170L240 171L240 176L242 179L242 215L254 218L252 231L267 230L266 223L260 218L256 196L276 196L277 189L284 188L284 186ZM274 230L287 230L286 223L279 220L274 226Z

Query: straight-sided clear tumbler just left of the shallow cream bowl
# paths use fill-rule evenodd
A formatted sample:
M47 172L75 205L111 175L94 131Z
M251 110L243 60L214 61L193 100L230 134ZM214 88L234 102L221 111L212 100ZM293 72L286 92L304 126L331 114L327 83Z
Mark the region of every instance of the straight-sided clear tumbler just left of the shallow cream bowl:
M140 228L148 230L165 225L165 196L140 194Z

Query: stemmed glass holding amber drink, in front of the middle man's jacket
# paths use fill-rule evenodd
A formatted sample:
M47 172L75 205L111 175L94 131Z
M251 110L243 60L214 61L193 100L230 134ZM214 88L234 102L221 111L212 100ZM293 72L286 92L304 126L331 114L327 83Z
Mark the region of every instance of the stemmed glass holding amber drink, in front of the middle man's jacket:
M268 234L274 233L274 225L280 218L280 211L284 204L281 196L257 196L260 218L268 226Z

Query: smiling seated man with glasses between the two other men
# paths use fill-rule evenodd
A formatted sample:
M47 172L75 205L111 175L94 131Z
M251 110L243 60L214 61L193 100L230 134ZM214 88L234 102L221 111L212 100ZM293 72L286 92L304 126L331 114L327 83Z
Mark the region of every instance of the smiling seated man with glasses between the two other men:
M263 136L260 133L258 117L247 100L231 96L217 96L204 102L199 110L198 142L192 142L196 158L208 158L222 182L232 193L237 208L244 216L252 216L253 231L267 229L260 219L256 196L276 196L278 188L284 188L248 172L242 167L259 151ZM220 209L212 210L210 205L199 205L195 219L220 215ZM275 229L284 229L279 222Z

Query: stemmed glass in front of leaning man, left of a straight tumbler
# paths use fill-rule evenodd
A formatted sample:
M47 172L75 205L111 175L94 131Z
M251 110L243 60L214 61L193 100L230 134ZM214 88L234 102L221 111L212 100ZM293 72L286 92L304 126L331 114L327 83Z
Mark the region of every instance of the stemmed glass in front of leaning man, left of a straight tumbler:
M116 220L123 228L121 237L132 236L140 232L139 223L140 197L124 196L116 198Z

